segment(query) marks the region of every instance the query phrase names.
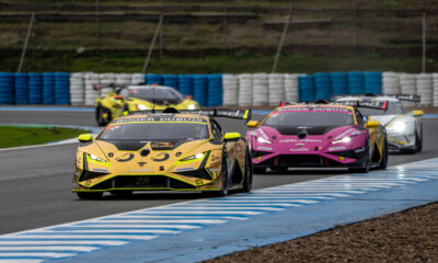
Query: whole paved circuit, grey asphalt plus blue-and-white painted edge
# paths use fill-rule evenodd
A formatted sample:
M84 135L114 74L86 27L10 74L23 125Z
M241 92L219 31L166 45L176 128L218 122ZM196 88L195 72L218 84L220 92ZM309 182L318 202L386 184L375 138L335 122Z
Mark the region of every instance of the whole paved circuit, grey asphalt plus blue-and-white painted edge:
M2 111L0 119L93 125L88 112ZM220 122L245 132L242 122ZM76 144L1 151L0 262L196 262L436 202L438 119L423 124L424 151L390 156L385 171L256 174L252 193L226 198L79 201L70 193Z

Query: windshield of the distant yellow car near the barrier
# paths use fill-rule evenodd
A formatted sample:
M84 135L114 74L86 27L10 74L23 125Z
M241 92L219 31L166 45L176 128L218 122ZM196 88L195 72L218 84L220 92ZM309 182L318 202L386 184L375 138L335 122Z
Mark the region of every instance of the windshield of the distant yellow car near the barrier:
M157 104L180 104L184 101L184 96L173 89L168 88L153 88L153 87L142 87L142 88L129 88L120 92L126 99L135 98L149 102L155 102Z

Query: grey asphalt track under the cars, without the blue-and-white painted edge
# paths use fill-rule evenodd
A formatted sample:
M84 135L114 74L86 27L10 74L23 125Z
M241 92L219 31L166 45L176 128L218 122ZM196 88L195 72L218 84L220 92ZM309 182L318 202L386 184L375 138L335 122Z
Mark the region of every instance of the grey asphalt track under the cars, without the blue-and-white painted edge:
M261 116L256 116L260 118ZM245 132L241 121L219 119L226 132ZM0 112L4 124L59 124L94 126L90 112ZM390 165L438 157L438 119L423 119L424 150L417 155L391 155ZM194 198L199 194L138 193L130 197L106 195L80 201L71 193L76 144L0 151L0 235L89 219ZM315 180L343 171L289 171L255 174L254 188Z

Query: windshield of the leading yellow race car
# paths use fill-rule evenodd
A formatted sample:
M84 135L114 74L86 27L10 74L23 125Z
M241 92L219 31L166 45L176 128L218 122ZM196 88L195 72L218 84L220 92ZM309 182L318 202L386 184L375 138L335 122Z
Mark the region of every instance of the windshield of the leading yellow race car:
M172 141L209 138L208 125L198 123L131 123L110 125L101 140Z

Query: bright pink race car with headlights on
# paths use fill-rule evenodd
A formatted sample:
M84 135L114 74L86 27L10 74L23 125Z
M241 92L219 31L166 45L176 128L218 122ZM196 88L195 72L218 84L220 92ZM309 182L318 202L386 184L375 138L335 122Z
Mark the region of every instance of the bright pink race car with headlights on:
M296 104L274 110L246 133L253 171L288 168L348 168L368 172L388 165L387 133L379 122L366 123L354 106Z

